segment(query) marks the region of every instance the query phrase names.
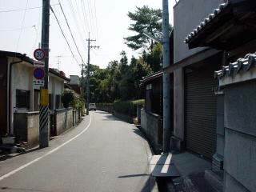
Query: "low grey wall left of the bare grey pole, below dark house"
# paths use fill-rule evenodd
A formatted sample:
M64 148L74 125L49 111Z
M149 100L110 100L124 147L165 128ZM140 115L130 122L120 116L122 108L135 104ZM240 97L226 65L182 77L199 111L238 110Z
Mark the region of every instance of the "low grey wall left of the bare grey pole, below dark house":
M160 153L162 150L162 123L160 116L158 114L147 113L142 109L141 126L155 153Z

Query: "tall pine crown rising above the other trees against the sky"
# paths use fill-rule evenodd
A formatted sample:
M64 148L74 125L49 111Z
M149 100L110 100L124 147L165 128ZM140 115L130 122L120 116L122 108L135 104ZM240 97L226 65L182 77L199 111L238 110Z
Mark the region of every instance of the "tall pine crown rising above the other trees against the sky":
M126 45L133 50L144 49L152 50L154 42L147 38L143 31L154 35L154 37L162 38L162 10L152 9L149 6L136 6L134 13L128 12L128 17L134 22L130 24L128 30L134 31L136 34L124 38Z

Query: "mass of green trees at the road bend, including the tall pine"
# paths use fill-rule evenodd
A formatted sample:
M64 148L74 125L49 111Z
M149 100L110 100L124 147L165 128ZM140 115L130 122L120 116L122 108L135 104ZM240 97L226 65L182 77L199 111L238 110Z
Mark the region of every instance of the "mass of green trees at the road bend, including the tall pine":
M135 104L130 101L143 98L144 95L139 87L140 80L162 69L162 45L143 34L146 31L162 38L162 10L148 6L136 7L127 16L131 20L127 27L134 35L125 37L125 43L132 50L139 50L141 54L138 58L133 56L129 62L126 52L120 50L121 59L110 61L106 69L90 65L90 102L114 103L116 109L127 106L126 112L133 114L132 106ZM82 71L85 76L86 70L87 66ZM82 86L86 88L86 81L82 82Z

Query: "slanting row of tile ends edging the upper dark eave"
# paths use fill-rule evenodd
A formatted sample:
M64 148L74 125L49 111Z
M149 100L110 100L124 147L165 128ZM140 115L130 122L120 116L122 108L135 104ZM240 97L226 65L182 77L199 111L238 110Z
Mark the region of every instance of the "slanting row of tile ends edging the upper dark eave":
M204 21L200 23L199 26L197 26L196 29L194 29L186 38L186 43L189 43L194 36L196 36L206 25L208 25L210 22L213 21L214 18L218 16L218 14L222 13L223 10L229 5L229 2L222 3L218 6L218 9L215 9L212 14L209 14L208 18L205 18Z

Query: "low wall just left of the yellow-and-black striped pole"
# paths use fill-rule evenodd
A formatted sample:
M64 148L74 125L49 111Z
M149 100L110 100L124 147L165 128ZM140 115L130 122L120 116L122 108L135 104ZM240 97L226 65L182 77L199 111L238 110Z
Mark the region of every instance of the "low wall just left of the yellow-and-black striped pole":
M39 144L39 112L15 113L14 135L16 142L27 142L26 148Z

